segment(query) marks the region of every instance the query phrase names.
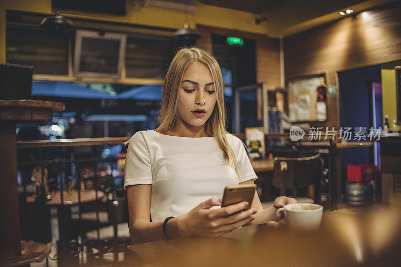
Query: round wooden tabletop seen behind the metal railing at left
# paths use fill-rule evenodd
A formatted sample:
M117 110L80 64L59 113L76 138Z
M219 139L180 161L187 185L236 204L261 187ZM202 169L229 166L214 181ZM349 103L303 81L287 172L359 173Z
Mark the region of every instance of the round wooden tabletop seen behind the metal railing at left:
M97 194L97 198L96 198ZM61 192L60 191L54 191L53 193L50 194L51 199L45 201L45 205L61 205ZM63 191L63 204L64 205L72 205L72 204L78 204L78 200L80 200L81 203L85 202L90 202L94 201L96 199L101 199L105 196L103 191L100 190L89 190L89 191L81 191L81 199L79 199L78 196L78 191L74 190L72 192L68 192L66 190ZM28 203L33 203L35 202L35 197L34 196L27 196L27 202Z

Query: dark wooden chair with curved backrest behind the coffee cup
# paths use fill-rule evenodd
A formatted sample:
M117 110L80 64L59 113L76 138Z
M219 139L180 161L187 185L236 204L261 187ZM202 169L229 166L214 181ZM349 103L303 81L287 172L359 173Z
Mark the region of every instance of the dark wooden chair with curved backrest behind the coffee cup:
M273 184L280 188L281 195L287 194L287 190L292 190L293 196L306 191L315 203L320 203L323 165L324 161L317 152L276 152Z

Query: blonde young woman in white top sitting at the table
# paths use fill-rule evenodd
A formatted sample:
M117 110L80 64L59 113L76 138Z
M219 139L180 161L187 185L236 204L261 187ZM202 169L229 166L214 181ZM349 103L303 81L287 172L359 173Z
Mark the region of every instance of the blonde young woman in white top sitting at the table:
M241 140L226 131L225 114L215 58L179 50L164 79L160 126L129 140L124 187L133 243L221 236L247 223L277 226L276 209L296 202L282 196L263 209L255 193L252 206L218 208L227 185L257 178Z

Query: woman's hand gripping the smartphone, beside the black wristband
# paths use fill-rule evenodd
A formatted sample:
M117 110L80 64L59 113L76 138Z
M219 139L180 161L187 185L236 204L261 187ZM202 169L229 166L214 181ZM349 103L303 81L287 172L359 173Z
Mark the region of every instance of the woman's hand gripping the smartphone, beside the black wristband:
M212 197L181 215L178 223L181 236L221 236L252 221L257 212L256 208L248 208L248 202L210 209L221 204L220 199Z

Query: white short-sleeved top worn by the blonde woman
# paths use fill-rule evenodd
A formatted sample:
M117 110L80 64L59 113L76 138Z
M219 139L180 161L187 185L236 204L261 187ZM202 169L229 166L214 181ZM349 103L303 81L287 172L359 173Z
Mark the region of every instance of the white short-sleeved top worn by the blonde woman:
M242 141L227 134L237 171L223 165L214 137L178 137L138 131L129 141L124 188L151 184L150 216L163 221L187 213L211 197L223 197L227 185L257 178Z

